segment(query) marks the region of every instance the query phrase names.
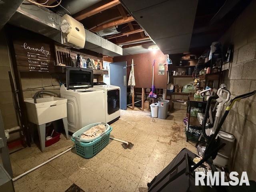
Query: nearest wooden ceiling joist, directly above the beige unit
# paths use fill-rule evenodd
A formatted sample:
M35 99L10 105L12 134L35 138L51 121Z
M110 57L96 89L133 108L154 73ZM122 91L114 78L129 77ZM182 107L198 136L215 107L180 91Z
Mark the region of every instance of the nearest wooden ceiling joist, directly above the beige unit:
M104 10L107 10L109 8L112 8L116 5L120 4L120 1L119 0L112 0L112 1L109 1L109 0L103 0L103 1L100 1L88 8L85 8L84 10L74 14L74 18L78 21L80 20L83 20L87 17L90 17L92 15L95 15L97 13L100 13Z

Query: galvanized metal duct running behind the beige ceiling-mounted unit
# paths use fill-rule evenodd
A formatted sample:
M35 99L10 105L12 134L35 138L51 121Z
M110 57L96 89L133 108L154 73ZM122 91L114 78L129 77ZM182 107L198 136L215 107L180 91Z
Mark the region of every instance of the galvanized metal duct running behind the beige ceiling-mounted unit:
M42 34L62 44L60 30L61 16L36 5L22 4L9 21L10 24ZM85 30L85 49L92 50L106 56L121 56L123 50L120 46Z

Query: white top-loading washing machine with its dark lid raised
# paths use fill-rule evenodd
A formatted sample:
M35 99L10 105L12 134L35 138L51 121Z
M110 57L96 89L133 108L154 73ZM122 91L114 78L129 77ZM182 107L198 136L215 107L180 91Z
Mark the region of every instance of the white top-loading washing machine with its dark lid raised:
M67 68L66 86L60 87L60 96L68 99L68 131L106 122L105 91L93 88L92 70Z

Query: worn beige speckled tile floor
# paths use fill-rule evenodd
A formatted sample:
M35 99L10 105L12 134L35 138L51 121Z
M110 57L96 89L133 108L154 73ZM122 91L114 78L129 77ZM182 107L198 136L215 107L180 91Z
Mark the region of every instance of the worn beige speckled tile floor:
M110 143L91 159L74 150L56 158L14 182L16 192L65 192L76 184L85 192L146 192L147 183L166 167L184 147L196 152L186 142L186 111L176 110L166 120L152 118L149 112L122 110L121 118L111 126L111 135L130 141L129 150ZM59 142L41 152L36 145L11 154L14 176L41 164L66 150L73 143L62 135Z

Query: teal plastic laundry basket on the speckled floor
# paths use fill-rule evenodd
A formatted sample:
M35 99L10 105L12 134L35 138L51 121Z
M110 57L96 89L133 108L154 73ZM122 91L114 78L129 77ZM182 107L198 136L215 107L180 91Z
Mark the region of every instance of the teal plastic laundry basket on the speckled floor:
M80 138L83 132L99 124L104 124L106 126L106 131L102 133L100 136L98 136L95 139L88 140ZM109 135L111 131L112 127L107 123L94 123L78 130L72 135L71 138L71 140L74 141L75 143L76 153L86 159L92 158L108 144Z

